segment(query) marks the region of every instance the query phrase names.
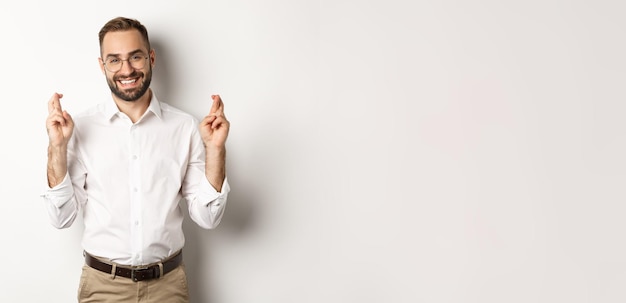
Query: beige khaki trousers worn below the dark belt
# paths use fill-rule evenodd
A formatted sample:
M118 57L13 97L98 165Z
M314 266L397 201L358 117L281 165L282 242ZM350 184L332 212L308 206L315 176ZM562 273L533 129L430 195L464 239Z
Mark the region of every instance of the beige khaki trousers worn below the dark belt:
M83 265L78 288L79 303L188 303L185 266L158 279L134 282L125 277Z

